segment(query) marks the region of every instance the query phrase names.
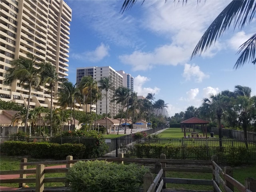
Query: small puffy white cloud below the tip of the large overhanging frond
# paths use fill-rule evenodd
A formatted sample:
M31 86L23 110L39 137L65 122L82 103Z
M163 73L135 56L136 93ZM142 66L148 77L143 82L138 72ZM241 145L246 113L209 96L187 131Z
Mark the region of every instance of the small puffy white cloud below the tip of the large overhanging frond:
M186 80L191 80L193 77L195 82L202 82L204 78L209 78L209 75L204 74L204 72L200 70L200 67L194 64L185 64L182 76L186 78Z

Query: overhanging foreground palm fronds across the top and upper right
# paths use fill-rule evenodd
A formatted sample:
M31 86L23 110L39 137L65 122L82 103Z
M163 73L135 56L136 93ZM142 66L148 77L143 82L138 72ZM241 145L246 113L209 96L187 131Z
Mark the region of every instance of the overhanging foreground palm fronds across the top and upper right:
M124 0L121 11L131 8L137 0ZM167 0L166 0L167 1ZM166 2L165 1L165 2ZM142 3L144 0L142 1ZM187 0L183 0L187 2ZM198 2L198 1L197 1ZM196 55L202 54L203 51L207 50L213 42L217 40L228 28L230 24L234 23L235 28L244 28L245 24L250 24L254 20L256 13L256 3L254 0L232 0L222 12L215 18L210 24L206 32L204 32L202 38L196 45L191 58ZM254 65L256 63L255 58L256 52L256 33L254 33L244 44L242 44L238 50L238 60L234 65L237 69L242 67L248 60Z

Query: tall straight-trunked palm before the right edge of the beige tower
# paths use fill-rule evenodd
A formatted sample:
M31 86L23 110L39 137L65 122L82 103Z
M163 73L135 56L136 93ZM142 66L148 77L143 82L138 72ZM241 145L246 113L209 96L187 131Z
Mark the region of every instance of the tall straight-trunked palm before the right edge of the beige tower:
M53 110L53 92L54 88L58 82L64 82L66 78L60 78L56 67L53 66L50 62L42 62L39 65L42 68L42 82L45 85L48 85L51 91L51 107L50 107L50 136L52 136L52 110Z

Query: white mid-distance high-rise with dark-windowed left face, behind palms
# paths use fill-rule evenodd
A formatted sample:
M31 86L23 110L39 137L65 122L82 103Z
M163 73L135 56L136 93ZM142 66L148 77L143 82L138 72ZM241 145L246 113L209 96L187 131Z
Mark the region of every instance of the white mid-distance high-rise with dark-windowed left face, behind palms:
M84 76L91 76L97 82L103 77L110 78L110 81L112 84L112 90L108 91L108 95L106 95L105 90L102 90L102 99L97 102L97 113L98 114L109 113L110 116L114 118L118 114L119 110L122 109L122 105L116 104L116 102L112 102L112 99L114 98L116 88L123 85L123 76L118 72L116 72L110 66L77 68L76 69L77 85L79 85L82 77ZM100 86L99 83L98 83L98 86ZM107 111L106 111L106 97L107 97L107 106L108 106Z

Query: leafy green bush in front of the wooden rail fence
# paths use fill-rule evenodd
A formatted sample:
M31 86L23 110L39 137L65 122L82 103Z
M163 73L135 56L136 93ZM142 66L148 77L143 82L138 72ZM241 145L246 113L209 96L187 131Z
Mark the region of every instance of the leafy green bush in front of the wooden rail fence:
M72 192L138 192L149 169L136 164L78 161L67 174Z

